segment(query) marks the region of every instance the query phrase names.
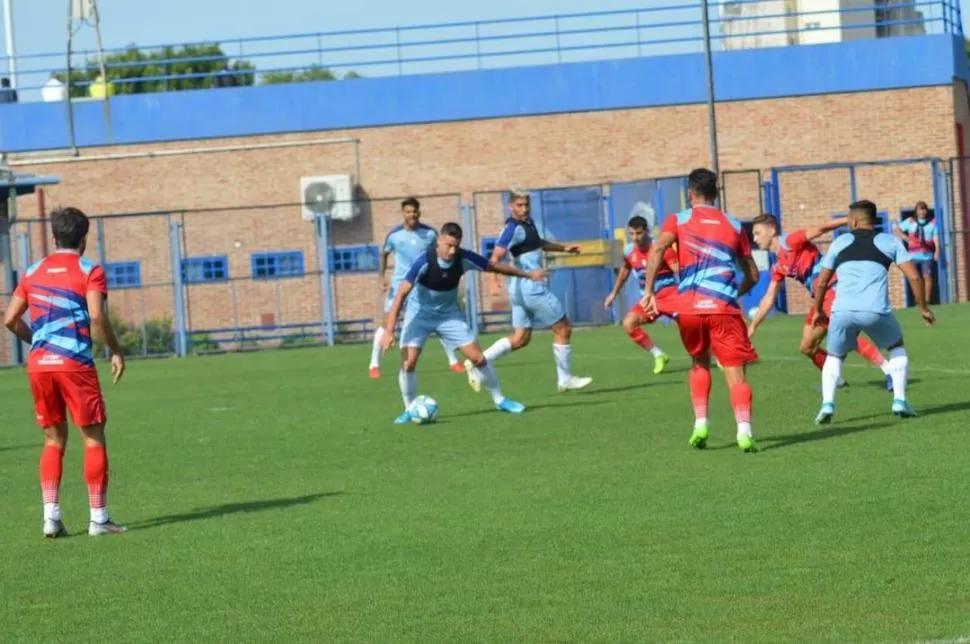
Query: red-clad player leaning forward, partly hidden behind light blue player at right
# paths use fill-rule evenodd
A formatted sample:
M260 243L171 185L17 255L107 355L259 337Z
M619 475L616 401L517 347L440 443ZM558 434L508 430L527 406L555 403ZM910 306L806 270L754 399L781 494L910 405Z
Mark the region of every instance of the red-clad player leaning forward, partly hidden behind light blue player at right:
M813 243L822 235L848 225L848 219L836 219L831 223L817 228L795 230L787 234L780 234L778 231L778 219L774 215L762 214L752 220L754 224L754 241L761 250L771 251L776 254L777 260L771 269L771 284L761 299L758 312L755 313L751 322L748 324L748 336L754 337L755 331L764 322L768 312L778 299L778 290L781 288L786 277L790 277L799 284L803 285L809 295L815 296L815 289L818 283L819 274L822 272L822 253ZM825 294L825 314L830 316L832 313L832 302L835 300L836 283L833 280L831 288ZM812 363L822 369L825 364L827 354L822 350L822 340L828 332L828 323L815 323L815 310L810 308L805 314L805 326L802 327L802 341L799 350L805 354ZM863 358L871 362L882 370L886 375L886 386L892 390L892 378L889 377L889 362L880 353L878 347L865 338L859 338L858 352ZM839 387L844 387L848 383L844 380L839 382Z

